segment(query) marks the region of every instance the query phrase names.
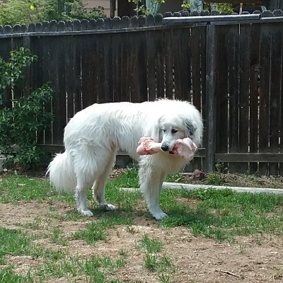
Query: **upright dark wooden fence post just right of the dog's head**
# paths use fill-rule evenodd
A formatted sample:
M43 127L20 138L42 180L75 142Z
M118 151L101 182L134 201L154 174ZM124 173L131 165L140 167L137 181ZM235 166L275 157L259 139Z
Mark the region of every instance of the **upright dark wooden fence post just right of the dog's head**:
M207 144L205 156L205 171L212 172L215 168L216 151L216 26L207 25L206 54L206 132Z

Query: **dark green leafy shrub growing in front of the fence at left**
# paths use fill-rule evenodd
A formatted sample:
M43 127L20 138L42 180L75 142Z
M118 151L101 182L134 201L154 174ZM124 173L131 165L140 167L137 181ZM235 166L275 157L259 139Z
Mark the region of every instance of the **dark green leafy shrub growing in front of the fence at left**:
M13 98L17 83L24 79L23 71L36 59L30 50L23 47L12 51L8 62L0 58L0 154L8 157L10 165L24 168L45 160L45 151L37 146L37 139L52 122L52 113L45 110L52 100L53 91L49 83L28 96ZM4 107L6 88L11 89L11 108Z

